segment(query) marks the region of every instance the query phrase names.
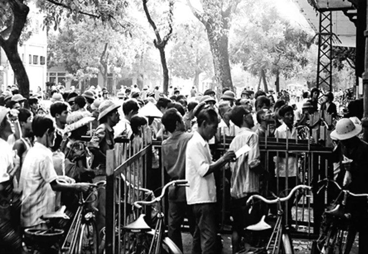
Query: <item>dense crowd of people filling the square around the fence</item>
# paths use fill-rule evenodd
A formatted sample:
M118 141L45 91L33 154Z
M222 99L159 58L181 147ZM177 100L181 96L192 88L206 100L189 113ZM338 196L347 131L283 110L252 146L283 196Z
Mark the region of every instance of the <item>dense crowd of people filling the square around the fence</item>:
M275 173L270 176L262 166L259 137L296 139L296 127L309 125L315 112L337 121L331 134L338 144L336 162L346 157L353 161L348 170L341 169L339 177L344 184L353 183L354 191L368 192L364 184L368 175L363 170L368 168L368 144L359 138L362 100L350 102L341 116L334 94L321 94L317 88L303 91L301 97L287 90L276 95L244 89L237 98L230 89L223 89L220 95L210 89L199 94L193 87L189 95L183 95L174 88L165 96L158 87L140 90L134 85L110 98L105 88L90 87L79 94L58 86L52 87L48 99L42 97L34 94L26 99L16 88L0 96L0 203L15 202L15 197L19 201L18 206L0 206L0 245L6 253L23 252L24 229L48 227L42 215L61 205L76 209L70 198L73 192L92 191L93 183L105 179L106 151L113 149L120 137L139 147L143 127L151 128L153 137L162 140L163 167L169 178L188 180L189 187L169 189L168 235L183 250L181 225L187 217L192 253L218 253L214 211L219 196L216 176L222 170L229 173L234 253L240 248L244 226L251 224L254 215L245 212L248 197L262 192L262 182L275 175L280 189L286 180L289 188L295 186L296 155L280 152L275 156ZM234 138L229 150L219 154L211 145L222 136ZM236 155L244 146L246 152ZM155 186L157 182L152 181L160 177L159 158L157 151L152 152L150 184ZM141 184L139 179L136 182ZM101 231L105 227L105 190L99 189L96 195L96 221ZM286 212L291 219L291 205ZM359 216L366 213L367 209L359 210ZM291 221L287 223L291 227Z

